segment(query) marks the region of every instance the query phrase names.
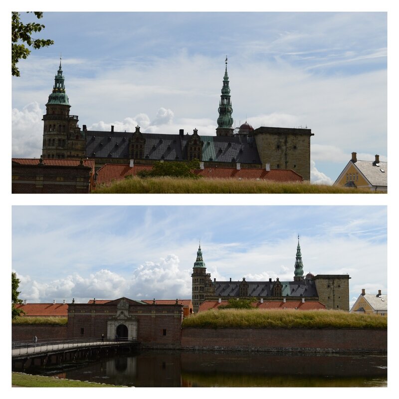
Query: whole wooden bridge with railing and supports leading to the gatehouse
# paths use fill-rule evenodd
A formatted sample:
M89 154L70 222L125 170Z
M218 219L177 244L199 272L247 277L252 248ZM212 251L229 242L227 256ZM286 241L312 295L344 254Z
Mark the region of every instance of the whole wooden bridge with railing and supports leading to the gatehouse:
M131 352L138 345L137 341L97 339L49 341L36 345L30 341L13 342L12 370L110 356L119 351Z

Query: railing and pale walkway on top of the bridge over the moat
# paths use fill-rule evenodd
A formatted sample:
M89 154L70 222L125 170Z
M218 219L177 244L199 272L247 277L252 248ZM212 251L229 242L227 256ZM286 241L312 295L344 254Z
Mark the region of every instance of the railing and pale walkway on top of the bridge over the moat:
M27 353L43 352L47 350L77 348L83 346L101 346L110 344L133 343L137 340L108 340L101 338L87 338L87 339L48 339L40 340L36 343L29 341L14 341L12 342L11 349L12 355L24 355Z

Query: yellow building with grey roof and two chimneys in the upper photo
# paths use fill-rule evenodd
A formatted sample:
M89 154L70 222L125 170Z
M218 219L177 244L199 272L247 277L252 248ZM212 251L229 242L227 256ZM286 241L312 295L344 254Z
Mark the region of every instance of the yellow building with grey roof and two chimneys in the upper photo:
M334 186L369 188L371 191L388 191L388 162L381 162L376 155L374 161L361 161L357 154L341 172Z

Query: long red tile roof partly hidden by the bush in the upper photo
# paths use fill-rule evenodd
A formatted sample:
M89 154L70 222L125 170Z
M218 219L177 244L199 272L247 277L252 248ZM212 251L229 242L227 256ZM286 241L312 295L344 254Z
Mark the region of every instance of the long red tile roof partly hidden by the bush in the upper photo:
M140 171L151 171L152 165L105 164L98 170L97 184L110 185L113 181L124 180L126 176L136 176ZM193 171L205 179L234 179L234 180L267 180L271 182L302 183L302 176L288 169L271 169L266 171L260 168L207 167Z

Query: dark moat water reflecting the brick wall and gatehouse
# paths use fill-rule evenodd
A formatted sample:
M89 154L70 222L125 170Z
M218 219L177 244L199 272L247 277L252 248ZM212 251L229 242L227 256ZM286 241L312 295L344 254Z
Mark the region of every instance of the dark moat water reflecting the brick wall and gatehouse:
M26 370L128 387L387 387L387 356L143 351Z

